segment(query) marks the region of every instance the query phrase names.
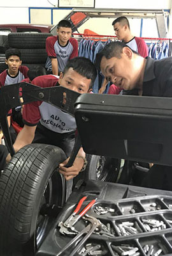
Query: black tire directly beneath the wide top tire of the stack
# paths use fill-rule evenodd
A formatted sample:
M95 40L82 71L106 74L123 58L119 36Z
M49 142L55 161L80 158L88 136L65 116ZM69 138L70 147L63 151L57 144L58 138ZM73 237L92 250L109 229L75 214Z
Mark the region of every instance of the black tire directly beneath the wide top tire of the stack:
M47 60L45 49L20 49L22 62L25 64L43 64Z

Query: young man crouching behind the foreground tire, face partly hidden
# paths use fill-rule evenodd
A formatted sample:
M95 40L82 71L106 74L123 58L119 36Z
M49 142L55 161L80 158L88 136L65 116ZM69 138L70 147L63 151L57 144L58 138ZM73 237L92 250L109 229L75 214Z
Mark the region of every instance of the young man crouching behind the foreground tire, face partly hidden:
M46 75L36 77L32 84L45 87L64 86L78 93L91 92L97 76L96 67L87 58L76 57L69 60L60 77ZM24 105L24 128L19 132L13 145L15 151L27 144L45 143L61 147L66 153L66 161L60 164L59 170L66 180L72 179L82 170L85 152L80 148L70 168L64 167L75 143L75 118L47 102L31 102Z

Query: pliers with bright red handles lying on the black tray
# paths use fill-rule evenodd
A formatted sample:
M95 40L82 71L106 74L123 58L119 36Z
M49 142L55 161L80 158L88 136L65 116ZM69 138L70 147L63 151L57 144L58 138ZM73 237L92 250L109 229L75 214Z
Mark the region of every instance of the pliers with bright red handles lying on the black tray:
M73 226L90 209L90 207L92 207L92 205L95 204L96 199L97 199L96 198L96 199L92 200L82 210L82 212L77 214L80 211L80 208L82 207L82 204L83 204L83 202L85 201L86 198L87 198L87 196L83 196L83 198L80 199L80 202L76 206L75 211L68 217L68 219L64 223L62 221L59 222L58 226L60 227L59 231L61 232L61 234L72 235L72 234L77 234L78 233L78 230L76 230L75 227L73 227Z

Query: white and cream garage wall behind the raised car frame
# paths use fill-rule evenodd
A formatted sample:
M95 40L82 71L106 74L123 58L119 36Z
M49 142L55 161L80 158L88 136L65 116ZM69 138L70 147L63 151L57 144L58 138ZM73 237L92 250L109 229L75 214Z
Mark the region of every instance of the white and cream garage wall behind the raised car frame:
M95 0L96 8L129 8L129 9L165 9L172 8L171 0ZM50 4L52 3L52 4ZM57 8L58 0L8 0L0 3L0 24L10 23L36 23L36 24L57 24L59 20L68 15L68 9ZM113 19L97 19L96 22L92 19L88 20L79 32L83 33L84 29L91 29L96 33L103 35L114 35L111 22ZM140 36L141 19L129 19L131 31L133 35ZM169 22L171 28L171 20ZM97 24L99 24L97 26ZM171 29L169 30L171 31ZM172 33L172 32L171 32ZM141 36L157 37L157 29L154 19L143 19L143 29Z

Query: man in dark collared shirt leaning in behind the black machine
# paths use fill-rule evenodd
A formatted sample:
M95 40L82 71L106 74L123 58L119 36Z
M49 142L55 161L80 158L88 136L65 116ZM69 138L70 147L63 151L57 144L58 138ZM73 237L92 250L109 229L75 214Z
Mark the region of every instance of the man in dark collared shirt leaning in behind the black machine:
M96 66L125 94L172 97L172 57L143 58L124 43L111 42L97 54ZM154 164L141 185L172 190L171 175L172 166Z

